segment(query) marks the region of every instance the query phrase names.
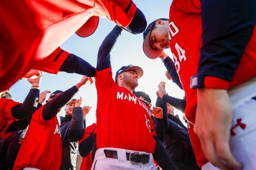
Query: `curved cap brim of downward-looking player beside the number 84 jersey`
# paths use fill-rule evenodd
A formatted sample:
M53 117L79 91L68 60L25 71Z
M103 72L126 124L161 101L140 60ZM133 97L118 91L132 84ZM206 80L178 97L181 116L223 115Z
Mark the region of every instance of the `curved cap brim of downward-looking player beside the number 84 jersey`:
M155 59L160 56L160 54L163 52L163 49L156 50L152 49L150 45L150 32L148 32L146 38L143 41L143 51L146 54L146 56L150 59Z

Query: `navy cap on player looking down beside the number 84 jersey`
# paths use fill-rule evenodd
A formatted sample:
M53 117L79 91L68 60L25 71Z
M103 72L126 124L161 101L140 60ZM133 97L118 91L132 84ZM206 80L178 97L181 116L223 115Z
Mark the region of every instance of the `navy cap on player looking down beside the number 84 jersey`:
M160 20L168 20L166 18L159 18ZM154 29L155 27L155 23L157 20L154 20L153 22L151 22L150 24L148 24L147 28L145 29L145 31L143 32L143 52L146 54L146 56L148 58L151 59L155 59L158 58L159 55L163 52L163 49L153 49L150 45L150 35L151 35L151 31L152 29Z

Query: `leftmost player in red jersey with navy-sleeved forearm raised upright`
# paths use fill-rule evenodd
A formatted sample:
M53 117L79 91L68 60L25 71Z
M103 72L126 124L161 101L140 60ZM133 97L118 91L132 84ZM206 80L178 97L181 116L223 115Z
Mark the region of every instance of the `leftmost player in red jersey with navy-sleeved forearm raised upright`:
M32 87L23 103L18 103L12 99L6 99L6 91L1 92L0 138L6 138L12 131L19 130L16 128L15 121L31 116L36 111L41 78L27 80Z

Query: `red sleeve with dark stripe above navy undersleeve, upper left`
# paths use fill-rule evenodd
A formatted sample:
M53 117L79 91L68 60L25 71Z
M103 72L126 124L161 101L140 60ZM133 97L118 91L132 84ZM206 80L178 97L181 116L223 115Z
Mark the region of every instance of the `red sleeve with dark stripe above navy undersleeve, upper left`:
M47 73L57 74L69 53L58 47L48 57L37 62L33 69L46 71Z

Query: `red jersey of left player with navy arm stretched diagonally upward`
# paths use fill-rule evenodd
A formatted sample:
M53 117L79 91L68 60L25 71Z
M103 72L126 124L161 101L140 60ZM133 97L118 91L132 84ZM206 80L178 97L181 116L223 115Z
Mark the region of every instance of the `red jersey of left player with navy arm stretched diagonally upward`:
M55 170L61 165L60 125L57 117L43 119L44 106L32 116L26 136L20 146L13 169L32 167Z

